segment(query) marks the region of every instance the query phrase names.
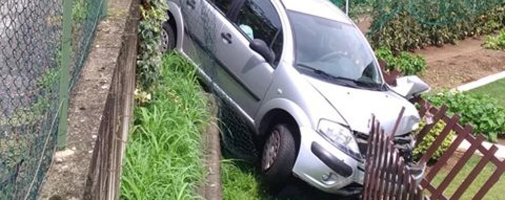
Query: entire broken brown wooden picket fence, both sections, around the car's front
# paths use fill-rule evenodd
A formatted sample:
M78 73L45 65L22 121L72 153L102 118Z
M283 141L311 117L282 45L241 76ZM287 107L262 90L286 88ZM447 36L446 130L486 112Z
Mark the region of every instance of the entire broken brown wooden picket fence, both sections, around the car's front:
M394 80L400 73L385 73L385 79L389 84L394 84ZM363 189L363 199L459 199L462 194L479 176L484 167L488 164L495 166L495 171L489 176L487 181L474 194L472 199L483 199L485 194L499 180L505 172L505 160L499 160L495 157L498 148L494 145L491 148L485 148L482 143L486 140L482 135L473 136L471 125L462 126L458 123L459 115L447 114L446 105L437 108L423 98L416 97L412 99L413 103L420 105L419 115L429 118L427 123L417 135L417 143L420 144L425 136L439 121L445 122L440 135L435 142L428 148L426 153L420 158L420 164L426 164L434 155L435 151L442 145L442 142L449 136L449 132L454 131L456 138L449 148L442 154L438 162L430 167L429 172L420 181L419 184L413 182L411 175L403 159L398 156L396 150L392 149L392 138L386 136L384 131L380 130L380 124L375 124L370 131L369 151L367 154L365 166L365 181ZM397 124L399 121L397 121ZM396 129L396 128L395 128ZM447 163L456 152L462 142L467 141L471 144L470 148L462 152L456 164L450 169L438 186L434 186L431 181L440 173L442 167ZM453 182L456 175L461 171L464 165L476 152L482 156L478 164L471 170L470 174L462 183L458 183L458 188L451 196L445 196L444 190ZM397 180L397 181L394 181Z

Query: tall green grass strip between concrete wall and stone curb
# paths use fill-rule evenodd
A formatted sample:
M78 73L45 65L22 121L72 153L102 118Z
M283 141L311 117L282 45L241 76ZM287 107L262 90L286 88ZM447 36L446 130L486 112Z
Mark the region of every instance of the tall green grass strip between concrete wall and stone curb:
M201 199L205 168L201 130L207 99L194 68L179 55L164 57L163 79L135 122L123 163L121 199Z

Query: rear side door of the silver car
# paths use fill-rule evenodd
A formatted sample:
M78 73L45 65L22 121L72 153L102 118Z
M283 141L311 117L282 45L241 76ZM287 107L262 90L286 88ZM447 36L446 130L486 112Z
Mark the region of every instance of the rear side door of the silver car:
M211 80L219 67L216 61L216 42L232 6L238 0L183 0L183 52L195 62Z

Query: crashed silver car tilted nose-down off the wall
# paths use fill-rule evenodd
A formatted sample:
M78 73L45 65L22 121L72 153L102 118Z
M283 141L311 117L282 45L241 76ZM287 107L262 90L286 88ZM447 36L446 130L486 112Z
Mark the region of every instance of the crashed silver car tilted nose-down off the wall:
M330 193L360 191L370 119L410 160L417 77L385 83L366 38L326 0L168 0L163 51L175 49L250 127L270 188L291 175Z

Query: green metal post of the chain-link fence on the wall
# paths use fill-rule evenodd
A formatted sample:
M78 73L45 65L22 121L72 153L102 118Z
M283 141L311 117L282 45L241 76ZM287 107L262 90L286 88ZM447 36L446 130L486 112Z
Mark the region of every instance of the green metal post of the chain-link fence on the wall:
M67 118L69 99L69 68L71 64L72 48L72 7L73 0L63 0L63 34L61 47L61 69L59 88L59 125L58 125L58 149L64 149L67 145Z

